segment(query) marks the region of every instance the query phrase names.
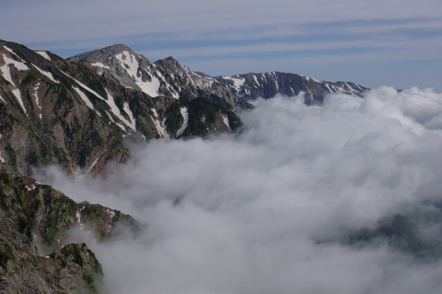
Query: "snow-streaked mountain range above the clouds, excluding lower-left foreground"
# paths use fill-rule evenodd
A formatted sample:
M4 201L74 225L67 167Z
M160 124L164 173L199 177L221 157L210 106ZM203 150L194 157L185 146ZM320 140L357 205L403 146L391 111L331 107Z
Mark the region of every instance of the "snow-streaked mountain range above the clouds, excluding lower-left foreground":
M125 140L231 132L247 101L305 92L361 96L355 83L329 83L280 72L212 77L172 57L151 63L126 45L68 59L0 41L0 165L29 174L57 163L73 174L124 161Z

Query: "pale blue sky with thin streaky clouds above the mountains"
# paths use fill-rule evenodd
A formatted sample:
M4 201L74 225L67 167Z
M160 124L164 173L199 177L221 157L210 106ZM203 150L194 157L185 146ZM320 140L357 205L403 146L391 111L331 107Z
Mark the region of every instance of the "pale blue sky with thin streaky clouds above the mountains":
M124 43L213 76L280 71L442 92L439 0L0 3L0 39L63 57Z

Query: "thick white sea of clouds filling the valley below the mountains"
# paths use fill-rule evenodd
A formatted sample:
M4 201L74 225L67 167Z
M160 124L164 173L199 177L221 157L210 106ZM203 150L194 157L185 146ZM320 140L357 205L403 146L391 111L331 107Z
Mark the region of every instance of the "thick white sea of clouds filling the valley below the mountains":
M442 94L302 101L258 99L238 134L135 145L96 178L36 177L147 224L89 240L110 293L442 293L436 259L339 242L442 199Z

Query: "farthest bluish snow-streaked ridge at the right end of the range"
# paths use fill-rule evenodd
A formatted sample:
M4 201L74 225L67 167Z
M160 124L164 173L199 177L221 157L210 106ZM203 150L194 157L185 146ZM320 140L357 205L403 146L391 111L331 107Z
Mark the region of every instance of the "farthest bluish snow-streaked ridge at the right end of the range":
M325 95L330 93L361 96L364 91L368 90L366 87L351 82L331 83L284 72L236 74L234 76L216 76L215 78L218 82L229 87L231 92L245 100L253 100L258 97L273 98L277 94L294 96L305 92L307 105L322 103Z

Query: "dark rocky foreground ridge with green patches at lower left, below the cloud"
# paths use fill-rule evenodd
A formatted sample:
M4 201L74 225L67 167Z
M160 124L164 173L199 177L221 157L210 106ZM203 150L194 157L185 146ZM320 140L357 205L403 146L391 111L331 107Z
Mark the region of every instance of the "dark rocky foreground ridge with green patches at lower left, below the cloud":
M76 203L48 185L0 174L0 293L93 293L102 267L86 244L63 244L75 226L106 238L131 216L87 202Z

